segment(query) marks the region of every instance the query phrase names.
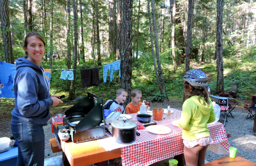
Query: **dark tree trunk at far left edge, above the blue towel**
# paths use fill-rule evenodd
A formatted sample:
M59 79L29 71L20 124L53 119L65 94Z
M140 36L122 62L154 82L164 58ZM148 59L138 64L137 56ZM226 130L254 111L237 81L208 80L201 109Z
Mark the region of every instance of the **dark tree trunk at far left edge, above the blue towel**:
M3 36L5 62L14 64L13 46L11 44L10 18L8 0L0 0L1 30Z

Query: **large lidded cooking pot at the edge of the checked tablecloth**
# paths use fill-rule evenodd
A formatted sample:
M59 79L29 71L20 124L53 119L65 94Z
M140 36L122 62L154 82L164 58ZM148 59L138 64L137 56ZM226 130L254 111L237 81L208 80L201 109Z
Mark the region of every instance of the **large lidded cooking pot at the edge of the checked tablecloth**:
M113 121L112 124L112 137L115 138L116 143L130 144L136 140L137 123L130 120Z

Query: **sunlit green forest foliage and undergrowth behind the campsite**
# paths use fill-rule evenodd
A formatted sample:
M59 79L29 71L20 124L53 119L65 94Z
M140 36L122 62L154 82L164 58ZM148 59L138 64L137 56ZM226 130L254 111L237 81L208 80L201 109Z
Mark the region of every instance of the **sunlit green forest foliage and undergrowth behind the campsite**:
M24 27L24 1L32 4L32 23ZM95 6L95 1L97 2ZM113 3L112 8L109 2ZM118 60L117 56L117 6L119 0L79 0L77 2L78 60L77 69L99 67L101 84L98 87L82 88L80 72L76 72L75 97L86 96L87 92L96 94L106 101L115 97L119 87L118 71L114 72L112 82L107 77L103 83L103 65ZM185 72L185 50L187 40L188 1L176 1L176 15L172 18L174 0L155 0L155 15L160 51L161 66L169 100L183 99L183 75ZM13 58L24 56L22 40L32 28L46 40L43 68L67 69L67 36L70 39L71 68L74 55L73 7L68 17L67 1L54 0L9 0L9 19ZM81 3L81 4L80 4ZM51 17L51 5L52 16ZM82 8L80 7L82 6ZM29 5L28 5L29 8ZM98 8L98 16L95 9ZM110 13L112 10L114 13ZM82 21L81 21L82 12ZM29 16L29 13L26 13ZM110 17L111 14L111 17ZM98 18L96 18L98 17ZM224 92L228 93L237 83L238 100L247 100L256 95L256 1L225 0L223 2L223 74ZM52 18L52 21L51 21ZM111 18L111 19L110 19ZM193 11L190 69L200 69L210 78L211 94L215 94L216 74L216 1L195 0ZM29 18L28 18L29 19ZM68 21L70 20L70 21ZM97 41L98 20L99 42ZM112 21L111 21L112 20ZM132 89L142 91L146 100L161 101L164 96L159 92L152 59L147 0L132 2ZM70 23L70 25L68 25ZM82 23L82 24L81 24ZM51 28L52 24L52 28ZM175 46L171 47L172 25L175 25ZM70 33L68 33L68 27ZM113 28L113 30L110 30ZM83 34L81 33L83 29ZM52 30L52 31L51 31ZM52 32L52 40L50 33ZM3 46L3 31L0 32L0 60L6 62ZM82 36L81 36L82 34ZM138 36L138 46L137 46ZM154 36L153 36L154 38ZM83 45L82 45L83 40ZM100 62L97 45L100 43ZM84 51L82 51L84 48ZM173 59L173 52L176 54ZM136 58L136 53L141 53ZM52 52L52 55L51 55ZM51 61L52 58L52 61ZM56 59L55 59L56 58ZM174 63L174 60L176 63ZM61 70L52 70L50 93L69 95L70 83L59 79ZM0 98L0 104L13 103L13 99ZM250 104L250 103L249 103Z

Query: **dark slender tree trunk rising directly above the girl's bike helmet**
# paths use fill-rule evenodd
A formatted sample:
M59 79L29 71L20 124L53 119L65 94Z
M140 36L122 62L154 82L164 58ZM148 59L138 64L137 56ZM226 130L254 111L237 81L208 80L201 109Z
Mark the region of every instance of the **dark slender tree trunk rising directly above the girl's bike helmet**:
M185 72L189 71L189 57L190 57L190 46L191 46L191 38L192 38L193 12L194 12L194 0L189 0Z

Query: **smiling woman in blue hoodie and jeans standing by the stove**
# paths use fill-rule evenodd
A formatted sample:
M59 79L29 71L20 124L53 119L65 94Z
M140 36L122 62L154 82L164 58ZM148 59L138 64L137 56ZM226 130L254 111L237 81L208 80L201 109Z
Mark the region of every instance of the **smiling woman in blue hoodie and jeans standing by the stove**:
M43 126L50 119L50 106L63 103L56 95L50 96L49 86L41 66L46 43L36 32L24 38L26 57L16 60L13 82L15 108L11 112L11 132L18 142L16 166L43 166Z

